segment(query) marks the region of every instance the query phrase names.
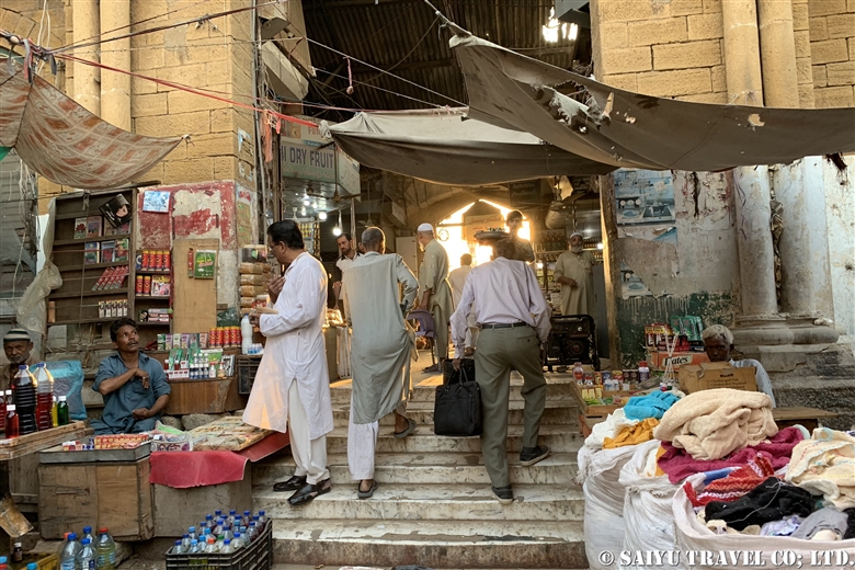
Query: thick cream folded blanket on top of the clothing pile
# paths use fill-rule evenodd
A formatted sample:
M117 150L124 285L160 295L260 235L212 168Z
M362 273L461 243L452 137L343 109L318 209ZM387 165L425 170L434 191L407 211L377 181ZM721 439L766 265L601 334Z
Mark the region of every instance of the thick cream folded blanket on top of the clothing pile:
M720 459L778 432L772 400L762 392L720 388L689 394L662 417L653 436L695 459Z

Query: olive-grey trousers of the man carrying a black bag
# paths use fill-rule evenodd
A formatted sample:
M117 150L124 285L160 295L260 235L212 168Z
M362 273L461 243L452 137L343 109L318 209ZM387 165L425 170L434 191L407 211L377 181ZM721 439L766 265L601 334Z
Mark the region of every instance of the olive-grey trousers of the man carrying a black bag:
M523 447L536 447L546 407L540 343L531 327L483 329L475 351L475 377L481 388L481 453L493 487L511 485L508 475L508 399L511 368L523 375Z

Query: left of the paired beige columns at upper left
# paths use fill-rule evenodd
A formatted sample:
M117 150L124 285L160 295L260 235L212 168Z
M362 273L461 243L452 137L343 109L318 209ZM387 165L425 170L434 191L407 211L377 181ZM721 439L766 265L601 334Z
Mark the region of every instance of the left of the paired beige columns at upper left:
M96 41L101 34L98 0L75 0L71 4L75 43ZM98 45L75 49L81 59L100 61ZM75 101L91 113L101 115L101 70L96 67L75 62Z

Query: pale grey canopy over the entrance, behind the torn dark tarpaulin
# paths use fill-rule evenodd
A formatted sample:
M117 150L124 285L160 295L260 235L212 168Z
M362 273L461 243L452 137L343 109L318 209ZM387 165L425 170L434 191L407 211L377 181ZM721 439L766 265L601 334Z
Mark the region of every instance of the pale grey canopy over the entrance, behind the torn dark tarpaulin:
M321 128L362 164L440 184L497 184L615 170L528 133L466 119L466 109L358 113Z

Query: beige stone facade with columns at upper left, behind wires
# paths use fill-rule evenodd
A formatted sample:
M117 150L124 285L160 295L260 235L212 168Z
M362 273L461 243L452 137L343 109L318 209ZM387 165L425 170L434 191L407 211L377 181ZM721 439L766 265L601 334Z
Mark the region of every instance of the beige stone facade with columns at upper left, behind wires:
M145 180L163 185L229 180L255 189L254 113L229 101L255 103L256 57L263 62L263 76L271 89L292 100L300 100L306 93L306 80L295 65L304 69L311 66L306 42L297 45L296 36L304 35L305 29L298 1L261 8L259 30L253 27L254 10L204 19L254 3L4 0L0 4L0 29L48 48L80 45L64 53L133 73L68 60L60 60L56 77L46 66L41 70L78 103L124 129L148 136L190 135L189 141L147 172ZM190 23L89 45L99 36L123 36L179 22ZM260 38L258 56L253 54L253 37ZM187 92L176 84L229 101ZM39 180L43 197L62 190ZM42 209L46 204L46 200L41 201Z

